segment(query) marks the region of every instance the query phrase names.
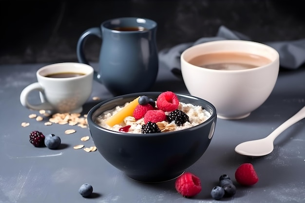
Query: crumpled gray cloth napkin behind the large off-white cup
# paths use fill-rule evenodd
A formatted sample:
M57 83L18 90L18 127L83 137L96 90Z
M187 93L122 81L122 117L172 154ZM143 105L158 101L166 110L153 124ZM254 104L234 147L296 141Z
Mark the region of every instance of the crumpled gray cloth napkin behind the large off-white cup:
M164 49L159 52L159 60L168 66L172 73L180 76L180 55L187 48L208 41L225 40L225 39L239 39L239 40L251 40L248 36L242 33L231 31L225 26L221 26L218 29L215 37L202 37L195 42L178 44L172 48ZM280 66L286 69L297 69L305 63L305 39L299 39L295 41L279 41L279 42L264 42L276 51L280 55Z

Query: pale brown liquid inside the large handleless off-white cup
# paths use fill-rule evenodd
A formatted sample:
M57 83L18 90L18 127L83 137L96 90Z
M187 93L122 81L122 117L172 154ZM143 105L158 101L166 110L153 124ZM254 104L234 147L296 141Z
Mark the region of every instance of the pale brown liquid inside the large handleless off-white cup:
M239 52L219 52L198 55L189 63L214 70L245 70L267 65L271 60L262 55Z

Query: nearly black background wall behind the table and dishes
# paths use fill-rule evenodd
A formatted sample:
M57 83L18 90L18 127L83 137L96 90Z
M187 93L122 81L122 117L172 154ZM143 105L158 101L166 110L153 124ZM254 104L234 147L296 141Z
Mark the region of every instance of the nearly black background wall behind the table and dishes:
M0 64L77 61L81 33L110 18L155 20L161 50L213 37L221 25L260 42L305 38L304 13L305 0L1 0ZM90 61L100 44L87 40Z

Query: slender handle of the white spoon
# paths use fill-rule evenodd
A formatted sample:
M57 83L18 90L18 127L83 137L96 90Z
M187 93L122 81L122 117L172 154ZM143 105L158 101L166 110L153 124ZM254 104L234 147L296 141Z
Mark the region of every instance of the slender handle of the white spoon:
M281 134L284 130L295 124L296 122L302 120L305 118L305 107L303 107L300 111L298 111L294 116L286 120L282 125L280 125L277 129L275 129L273 132L271 132L268 135L269 139L272 139L272 141L275 140L279 134Z

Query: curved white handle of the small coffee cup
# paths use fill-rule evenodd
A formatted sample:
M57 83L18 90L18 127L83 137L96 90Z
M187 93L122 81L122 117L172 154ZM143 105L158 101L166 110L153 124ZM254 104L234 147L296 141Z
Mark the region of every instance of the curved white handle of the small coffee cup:
M40 92L40 98L42 100L41 104L32 105L28 102L28 95L32 91ZM27 86L26 88L24 88L22 90L22 92L20 93L20 102L21 102L22 106L24 106L28 109L32 109L32 110L39 111L39 110L53 110L54 109L50 103L46 102L44 90L38 82L32 83L31 85Z

